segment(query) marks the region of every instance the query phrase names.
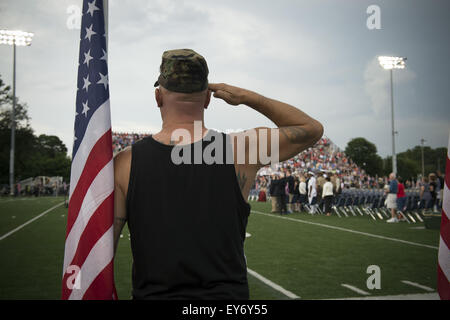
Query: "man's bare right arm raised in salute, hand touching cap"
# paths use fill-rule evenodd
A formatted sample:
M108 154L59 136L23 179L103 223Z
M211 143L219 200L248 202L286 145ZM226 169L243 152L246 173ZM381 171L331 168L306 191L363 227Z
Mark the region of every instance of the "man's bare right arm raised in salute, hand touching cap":
M272 120L278 127L276 129L255 128L232 135L235 144L236 176L241 181L243 181L243 176L246 177L245 182L240 183L244 198L248 197L258 169L267 164L260 158L260 142L265 143L267 155L272 156L271 137L275 133L273 136L278 137L278 141L276 141L278 149L275 148L278 152L278 160L284 161L314 145L322 137L322 124L289 104L224 83L211 83L209 84L209 90L214 92L215 98L223 99L230 105L245 104L249 106ZM257 143L250 143L252 135L256 136ZM243 137L246 141L244 152L237 148L239 137ZM245 155L245 161L239 161L239 154ZM251 155L256 156L256 161L252 161Z

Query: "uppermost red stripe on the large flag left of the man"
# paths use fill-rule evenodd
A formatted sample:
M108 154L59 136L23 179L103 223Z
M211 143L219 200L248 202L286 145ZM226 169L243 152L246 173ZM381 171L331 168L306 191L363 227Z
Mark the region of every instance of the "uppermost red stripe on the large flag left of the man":
M70 198L69 212L67 215L66 239L70 230L72 230L73 224L77 220L84 196L91 186L92 181L94 181L100 170L102 170L112 159L111 141L112 135L111 129L109 129L100 139L98 139L86 160L80 180L78 180L77 186ZM105 152L105 150L107 150L107 152ZM109 152L109 150L111 150L111 152Z

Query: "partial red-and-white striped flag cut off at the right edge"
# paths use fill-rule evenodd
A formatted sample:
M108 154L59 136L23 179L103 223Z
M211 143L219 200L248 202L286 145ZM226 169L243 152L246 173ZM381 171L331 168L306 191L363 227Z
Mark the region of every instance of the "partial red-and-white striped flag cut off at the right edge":
M450 300L450 132L444 180L444 185L441 186L444 189L444 199L438 254L438 292L442 300Z

